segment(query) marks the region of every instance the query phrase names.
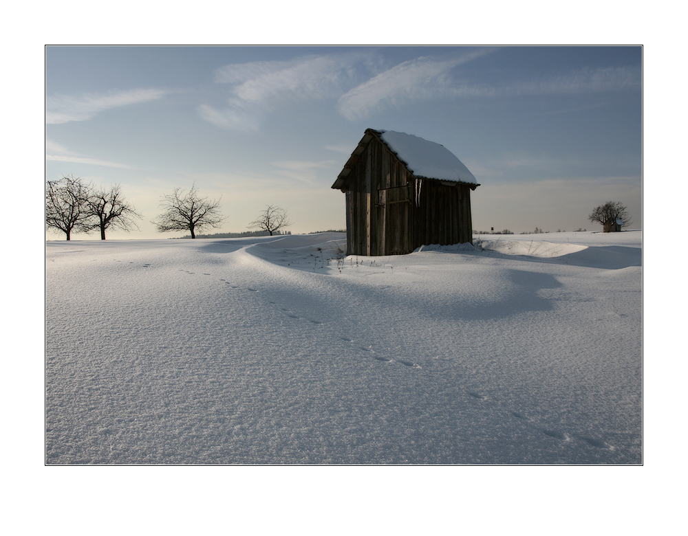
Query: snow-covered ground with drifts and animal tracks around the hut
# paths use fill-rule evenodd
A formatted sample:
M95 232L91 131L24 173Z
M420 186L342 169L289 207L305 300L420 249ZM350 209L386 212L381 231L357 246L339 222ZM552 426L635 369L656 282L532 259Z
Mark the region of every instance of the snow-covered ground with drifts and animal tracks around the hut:
M47 463L641 463L641 232L475 243L47 242Z

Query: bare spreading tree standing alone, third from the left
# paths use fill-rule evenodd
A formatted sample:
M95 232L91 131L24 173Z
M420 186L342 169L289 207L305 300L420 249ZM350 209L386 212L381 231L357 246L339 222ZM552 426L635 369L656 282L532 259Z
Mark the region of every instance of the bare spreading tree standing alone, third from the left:
M189 231L191 238L196 238L196 231L206 227L219 227L227 218L219 212L219 202L222 199L209 200L200 197L195 188L186 193L181 188L175 188L173 194L163 195L160 205L164 212L151 221L158 232Z

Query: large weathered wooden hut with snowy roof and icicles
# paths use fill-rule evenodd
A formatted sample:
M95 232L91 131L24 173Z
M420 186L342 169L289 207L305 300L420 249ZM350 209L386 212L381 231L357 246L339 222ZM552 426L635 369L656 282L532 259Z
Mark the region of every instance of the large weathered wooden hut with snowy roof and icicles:
M347 255L472 243L471 190L478 186L444 146L367 129L332 185L346 194Z

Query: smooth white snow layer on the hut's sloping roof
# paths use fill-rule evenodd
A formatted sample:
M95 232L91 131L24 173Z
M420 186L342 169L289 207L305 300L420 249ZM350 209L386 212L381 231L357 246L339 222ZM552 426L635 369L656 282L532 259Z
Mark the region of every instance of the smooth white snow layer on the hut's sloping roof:
M377 132L416 177L477 184L473 173L446 147L405 132Z

